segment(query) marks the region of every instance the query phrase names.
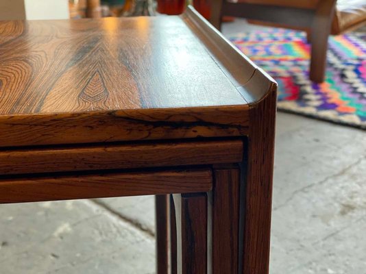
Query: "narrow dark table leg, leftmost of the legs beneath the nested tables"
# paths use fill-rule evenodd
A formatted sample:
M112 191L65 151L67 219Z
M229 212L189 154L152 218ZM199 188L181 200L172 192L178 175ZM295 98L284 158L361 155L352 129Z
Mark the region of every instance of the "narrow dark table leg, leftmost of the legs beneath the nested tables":
M156 273L168 274L168 198L155 196L156 213Z

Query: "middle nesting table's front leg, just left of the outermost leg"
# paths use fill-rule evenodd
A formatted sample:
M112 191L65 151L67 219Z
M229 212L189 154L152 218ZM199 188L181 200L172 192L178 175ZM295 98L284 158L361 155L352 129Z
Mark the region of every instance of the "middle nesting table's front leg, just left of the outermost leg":
M212 239L212 274L238 273L239 270L239 167L214 169L214 187L210 195L209 225Z

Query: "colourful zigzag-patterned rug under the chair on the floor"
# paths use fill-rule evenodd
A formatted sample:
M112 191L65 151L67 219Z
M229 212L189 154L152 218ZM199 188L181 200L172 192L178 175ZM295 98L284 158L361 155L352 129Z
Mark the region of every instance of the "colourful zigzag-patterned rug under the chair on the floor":
M236 35L236 47L278 82L278 109L366 129L366 34L329 38L326 81L308 79L304 32L269 28Z

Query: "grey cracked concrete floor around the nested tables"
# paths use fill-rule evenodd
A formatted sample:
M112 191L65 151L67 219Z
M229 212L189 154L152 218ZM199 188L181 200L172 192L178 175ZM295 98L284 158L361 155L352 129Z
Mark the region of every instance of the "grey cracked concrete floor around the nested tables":
M271 238L271 274L366 273L365 132L278 113ZM0 274L154 273L154 245L153 197L0 206Z

